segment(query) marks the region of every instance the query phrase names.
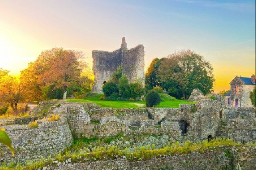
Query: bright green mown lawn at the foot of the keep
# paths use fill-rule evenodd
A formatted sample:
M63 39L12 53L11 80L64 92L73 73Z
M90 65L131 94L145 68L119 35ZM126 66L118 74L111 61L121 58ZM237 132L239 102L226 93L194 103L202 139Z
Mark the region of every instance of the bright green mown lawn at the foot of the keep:
M100 97L104 96L103 94L97 94L93 96L87 96L84 99L67 99L68 102L79 102L79 103L95 103L100 107L113 107L113 108L141 108L146 106L145 101L108 101L100 100ZM178 100L175 97L160 94L163 101L156 107L173 107L179 108L179 104L194 104L195 102L188 102L184 100Z

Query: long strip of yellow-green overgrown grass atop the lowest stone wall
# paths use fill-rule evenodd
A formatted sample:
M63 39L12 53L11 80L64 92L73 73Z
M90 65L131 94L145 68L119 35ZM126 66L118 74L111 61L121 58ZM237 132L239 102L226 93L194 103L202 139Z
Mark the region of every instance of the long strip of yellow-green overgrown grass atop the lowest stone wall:
M120 135L121 136L121 135ZM96 139L93 139L96 140ZM97 139L98 140L98 139ZM90 142L91 139L82 139L83 142ZM80 141L75 142L72 146L66 148L63 152L55 154L53 156L54 160L63 162L68 158L71 158L72 162L80 162L87 160L107 160L115 159L117 157L125 156L129 160L147 160L152 157L161 157L174 154L189 154L192 152L204 153L206 150L223 150L225 149L225 156L230 158L232 155L230 153L230 148L232 146L245 146L242 144L235 143L231 139L216 138L215 140L203 140L192 143L191 141L186 141L183 143L168 143L164 148L155 149L154 144L142 147L135 147L134 151L129 151L128 148L121 150L118 146L98 146L93 148L93 150L88 150L87 148L80 148ZM256 146L256 144L253 144ZM73 151L76 152L73 152ZM72 151L72 152L71 152ZM41 159L37 162L26 162L24 166L16 165L15 168L11 168L6 164L2 164L0 170L6 169L21 169L21 170L30 170L42 168L46 165L52 163L51 159ZM11 165L13 166L13 165Z

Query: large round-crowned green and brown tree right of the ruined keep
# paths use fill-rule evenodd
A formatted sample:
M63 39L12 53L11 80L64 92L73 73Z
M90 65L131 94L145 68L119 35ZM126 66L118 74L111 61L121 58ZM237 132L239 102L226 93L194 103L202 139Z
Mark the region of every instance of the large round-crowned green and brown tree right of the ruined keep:
M204 94L211 92L214 82L212 71L212 66L203 56L191 50L182 50L160 63L157 79L167 91L182 94L183 99L188 99L195 88Z

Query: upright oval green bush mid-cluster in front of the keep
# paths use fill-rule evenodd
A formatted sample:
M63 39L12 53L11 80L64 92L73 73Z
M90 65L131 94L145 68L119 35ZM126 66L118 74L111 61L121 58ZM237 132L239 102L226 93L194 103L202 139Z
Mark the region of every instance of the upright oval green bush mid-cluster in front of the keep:
M129 86L129 80L126 75L122 75L119 79L117 88L119 90L119 95L124 98L131 97L131 90Z

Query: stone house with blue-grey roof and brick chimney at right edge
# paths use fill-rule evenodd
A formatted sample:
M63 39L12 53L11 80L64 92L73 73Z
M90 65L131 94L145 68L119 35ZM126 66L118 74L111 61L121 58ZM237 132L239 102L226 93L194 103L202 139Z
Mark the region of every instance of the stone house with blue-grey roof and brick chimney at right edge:
M250 92L255 88L255 75L236 76L230 82L230 94L225 94L225 104L231 107L253 107Z

